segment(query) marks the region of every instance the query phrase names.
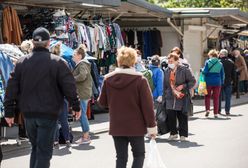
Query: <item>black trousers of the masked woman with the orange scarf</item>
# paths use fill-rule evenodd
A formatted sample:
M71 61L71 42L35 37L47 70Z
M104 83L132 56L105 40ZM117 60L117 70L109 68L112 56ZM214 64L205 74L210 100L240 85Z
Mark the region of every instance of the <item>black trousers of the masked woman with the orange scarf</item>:
M178 134L177 119L179 122L179 135L188 137L188 116L183 114L182 111L168 110L168 124L171 130L170 134Z

